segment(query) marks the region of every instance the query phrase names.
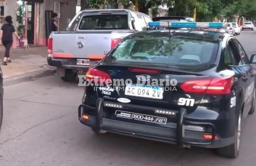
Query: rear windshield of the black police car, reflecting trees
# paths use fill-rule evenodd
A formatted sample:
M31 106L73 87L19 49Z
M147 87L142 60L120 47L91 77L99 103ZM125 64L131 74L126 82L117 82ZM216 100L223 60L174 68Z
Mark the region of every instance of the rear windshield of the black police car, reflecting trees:
M218 42L176 37L146 37L124 40L112 51L115 63L154 63L198 67L213 63Z

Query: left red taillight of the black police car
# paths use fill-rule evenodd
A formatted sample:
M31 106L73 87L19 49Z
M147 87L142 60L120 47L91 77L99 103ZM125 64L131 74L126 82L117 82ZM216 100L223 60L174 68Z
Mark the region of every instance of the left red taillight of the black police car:
M91 79L91 82L103 83L105 84L107 79L111 77L105 71L101 71L95 68L89 68L86 72L86 79Z

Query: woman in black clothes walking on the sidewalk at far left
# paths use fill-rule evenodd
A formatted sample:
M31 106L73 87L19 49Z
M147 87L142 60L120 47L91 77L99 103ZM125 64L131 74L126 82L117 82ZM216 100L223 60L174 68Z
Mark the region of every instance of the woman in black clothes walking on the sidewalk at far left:
M0 34L0 45L4 45L5 47L5 55L3 60L3 65L7 65L7 63L11 63L10 59L10 48L13 43L13 34L20 40L20 37L18 36L17 32L14 29L14 26L12 25L12 17L7 16L5 18L6 24L4 24L1 28L1 34ZM6 63L7 62L7 63Z

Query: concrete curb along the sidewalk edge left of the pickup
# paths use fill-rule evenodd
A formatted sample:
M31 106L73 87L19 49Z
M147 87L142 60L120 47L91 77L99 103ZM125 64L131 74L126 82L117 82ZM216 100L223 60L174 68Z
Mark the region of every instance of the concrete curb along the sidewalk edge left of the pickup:
M31 73L22 74L19 76L9 77L6 79L4 78L3 85L4 87L6 87L10 85L15 85L21 82L33 81L35 80L35 78L51 76L51 75L54 75L54 73L55 73L55 69L43 69L43 70L31 72Z

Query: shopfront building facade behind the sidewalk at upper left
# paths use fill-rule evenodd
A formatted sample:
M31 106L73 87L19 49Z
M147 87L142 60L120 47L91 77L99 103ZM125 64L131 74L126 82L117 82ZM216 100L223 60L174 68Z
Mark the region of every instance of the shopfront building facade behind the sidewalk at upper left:
M11 15L19 36L34 45L47 44L47 22L51 16L49 13L59 14L60 31L66 29L69 20L76 13L76 0L0 0L0 6L1 26L4 18ZM22 41L16 41L13 47L20 45Z

